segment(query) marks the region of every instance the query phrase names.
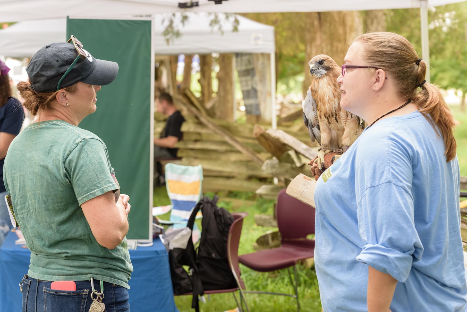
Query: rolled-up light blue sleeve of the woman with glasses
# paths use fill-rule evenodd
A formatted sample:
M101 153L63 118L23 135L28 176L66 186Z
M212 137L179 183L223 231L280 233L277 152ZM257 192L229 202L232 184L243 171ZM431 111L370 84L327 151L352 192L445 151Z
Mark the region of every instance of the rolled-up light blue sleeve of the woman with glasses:
M402 187L391 182L369 187L357 206L363 248L356 260L405 282L423 253L413 207Z

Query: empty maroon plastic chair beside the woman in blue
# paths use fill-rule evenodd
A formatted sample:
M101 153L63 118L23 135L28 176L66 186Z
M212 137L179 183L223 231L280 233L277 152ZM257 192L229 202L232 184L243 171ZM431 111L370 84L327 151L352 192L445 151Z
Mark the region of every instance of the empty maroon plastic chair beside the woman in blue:
M259 272L271 272L287 268L290 283L294 287L295 295L264 292L244 291L245 293L263 293L271 295L289 296L297 299L297 311L300 311L297 292L297 262L314 256L315 241L307 239L308 234L315 233L315 209L288 195L283 189L277 196L277 226L281 233L281 247L240 255L241 264ZM293 266L295 284L293 283L290 267Z

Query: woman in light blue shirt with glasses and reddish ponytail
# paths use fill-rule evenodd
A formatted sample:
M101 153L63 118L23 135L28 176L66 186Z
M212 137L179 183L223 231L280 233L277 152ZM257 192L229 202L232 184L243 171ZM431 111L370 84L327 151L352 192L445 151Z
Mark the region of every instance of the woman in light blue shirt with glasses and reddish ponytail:
M340 106L369 125L318 179L324 311L467 311L456 121L400 35L357 37Z

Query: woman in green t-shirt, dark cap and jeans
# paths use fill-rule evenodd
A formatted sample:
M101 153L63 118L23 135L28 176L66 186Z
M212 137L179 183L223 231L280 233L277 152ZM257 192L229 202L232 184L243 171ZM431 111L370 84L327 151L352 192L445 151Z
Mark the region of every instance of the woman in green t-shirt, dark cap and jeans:
M37 51L26 71L18 90L37 119L11 143L4 165L31 250L23 311L105 305L127 312L129 197L120 194L104 142L78 127L96 111L96 93L115 79L118 64L93 58L71 36Z

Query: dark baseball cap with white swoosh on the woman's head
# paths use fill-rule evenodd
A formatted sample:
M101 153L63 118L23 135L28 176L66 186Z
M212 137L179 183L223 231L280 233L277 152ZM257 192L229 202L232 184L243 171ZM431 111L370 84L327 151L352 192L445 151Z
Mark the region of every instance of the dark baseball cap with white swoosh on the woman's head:
M108 85L117 77L117 63L94 58L84 51L86 57L79 57L78 62L60 83L60 88L78 81L90 85ZM58 82L76 57L78 51L72 43L50 43L38 50L26 67L34 91L55 92Z

